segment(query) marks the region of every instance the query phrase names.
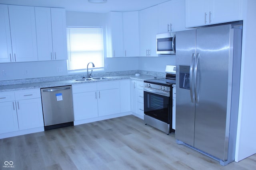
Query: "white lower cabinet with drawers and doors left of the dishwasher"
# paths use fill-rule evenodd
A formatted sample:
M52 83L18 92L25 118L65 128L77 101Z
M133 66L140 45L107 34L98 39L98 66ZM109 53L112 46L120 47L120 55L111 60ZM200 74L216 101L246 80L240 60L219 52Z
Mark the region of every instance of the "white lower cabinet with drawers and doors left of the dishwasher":
M0 93L0 138L32 133L43 128L42 101L40 89ZM17 132L12 135L1 135Z

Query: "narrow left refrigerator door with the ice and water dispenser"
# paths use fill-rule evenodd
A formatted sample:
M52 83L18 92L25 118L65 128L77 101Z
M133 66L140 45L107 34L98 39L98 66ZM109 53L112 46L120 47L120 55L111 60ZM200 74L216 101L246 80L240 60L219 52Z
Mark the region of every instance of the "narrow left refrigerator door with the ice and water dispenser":
M176 139L194 146L195 104L188 88L192 54L196 53L196 29L176 32ZM189 86L192 83L189 76Z

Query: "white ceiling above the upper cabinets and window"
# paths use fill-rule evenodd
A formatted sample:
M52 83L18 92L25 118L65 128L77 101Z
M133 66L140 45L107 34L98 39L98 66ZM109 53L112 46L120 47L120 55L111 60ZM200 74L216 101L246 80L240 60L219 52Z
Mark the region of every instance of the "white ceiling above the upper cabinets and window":
M108 0L89 3L88 0L0 0L0 4L66 8L67 11L106 13L109 11L138 11L168 0Z

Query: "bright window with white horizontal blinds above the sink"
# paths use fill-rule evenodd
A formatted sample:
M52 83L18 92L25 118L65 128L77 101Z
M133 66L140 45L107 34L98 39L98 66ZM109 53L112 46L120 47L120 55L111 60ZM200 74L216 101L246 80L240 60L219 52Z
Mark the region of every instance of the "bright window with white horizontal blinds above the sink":
M67 45L68 71L104 68L102 27L67 27Z

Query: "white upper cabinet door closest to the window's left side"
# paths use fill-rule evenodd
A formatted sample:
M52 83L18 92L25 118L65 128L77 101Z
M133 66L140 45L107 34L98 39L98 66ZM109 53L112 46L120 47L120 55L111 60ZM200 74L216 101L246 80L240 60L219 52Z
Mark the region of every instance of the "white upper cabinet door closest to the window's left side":
M64 8L51 8L53 59L68 59L66 37L66 11Z

